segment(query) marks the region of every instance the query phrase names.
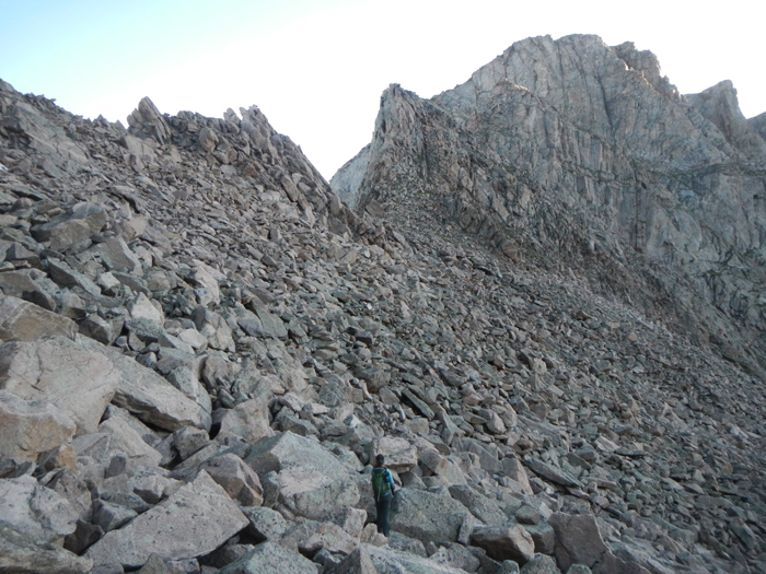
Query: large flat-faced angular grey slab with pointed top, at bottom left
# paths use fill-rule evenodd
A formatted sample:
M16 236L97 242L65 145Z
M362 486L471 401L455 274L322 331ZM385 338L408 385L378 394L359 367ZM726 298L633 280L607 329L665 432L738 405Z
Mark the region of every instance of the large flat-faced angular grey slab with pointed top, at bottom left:
M96 566L143 565L152 553L179 560L196 558L225 542L247 526L227 492L200 471L166 501L108 532L85 553Z

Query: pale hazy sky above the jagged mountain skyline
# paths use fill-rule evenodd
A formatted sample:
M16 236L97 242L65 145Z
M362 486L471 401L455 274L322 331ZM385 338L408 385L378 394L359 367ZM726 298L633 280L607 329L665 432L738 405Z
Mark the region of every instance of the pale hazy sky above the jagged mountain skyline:
M329 179L390 83L430 97L529 36L650 49L682 93L732 80L766 112L763 0L0 0L0 78L89 118L257 105Z

